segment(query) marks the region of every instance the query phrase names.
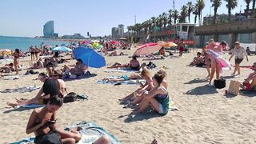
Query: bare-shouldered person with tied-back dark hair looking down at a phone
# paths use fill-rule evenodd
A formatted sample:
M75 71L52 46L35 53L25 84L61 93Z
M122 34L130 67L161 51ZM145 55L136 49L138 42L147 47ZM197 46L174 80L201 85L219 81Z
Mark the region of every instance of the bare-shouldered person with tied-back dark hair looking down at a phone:
M58 128L56 124L57 115L56 111L62 107L63 98L61 95L53 95L46 106L40 109L36 109L30 115L29 121L26 126L26 134L34 133L34 143L42 144L48 143L50 138L54 138L56 143L68 143L74 144L79 142L82 135L79 134L77 127L76 130L66 131ZM50 138L49 138L50 136ZM110 138L106 135L98 138L94 144L108 144Z

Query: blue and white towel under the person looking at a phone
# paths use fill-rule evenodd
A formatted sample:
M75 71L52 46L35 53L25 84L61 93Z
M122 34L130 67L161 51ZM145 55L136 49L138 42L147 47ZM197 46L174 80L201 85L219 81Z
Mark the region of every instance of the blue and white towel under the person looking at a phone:
M110 144L120 143L118 139L114 137L114 135L108 133L101 126L98 126L94 122L80 122L78 124L67 127L65 130L70 130L78 126L82 127L82 130L79 131L80 134L82 134L82 138L78 142L78 144L91 144L95 142L98 138L102 137L102 135L104 134L110 137ZM22 141L13 142L11 144L20 144L22 142L24 142L24 144L30 144L34 142L34 138L25 138Z

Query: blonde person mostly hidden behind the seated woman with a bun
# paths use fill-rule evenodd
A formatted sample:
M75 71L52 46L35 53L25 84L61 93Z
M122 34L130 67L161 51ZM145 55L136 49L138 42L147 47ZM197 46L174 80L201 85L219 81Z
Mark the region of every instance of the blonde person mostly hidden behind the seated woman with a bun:
M158 73L157 74L162 74L163 75L163 80L162 80L162 86L164 86L164 88L167 90L167 79L166 79L166 70L164 69L160 69L158 70ZM153 83L153 86L152 87L155 87L156 85L154 85ZM152 88L153 89L153 88ZM151 89L151 90L152 90ZM142 92L142 94L137 94L135 95L134 99L130 99L130 102L127 102L128 103L128 106L130 106L131 108L134 108L137 106L137 104L141 103L143 101L143 99L145 97L143 97L143 94L147 91L150 91L150 90L144 90L144 92Z

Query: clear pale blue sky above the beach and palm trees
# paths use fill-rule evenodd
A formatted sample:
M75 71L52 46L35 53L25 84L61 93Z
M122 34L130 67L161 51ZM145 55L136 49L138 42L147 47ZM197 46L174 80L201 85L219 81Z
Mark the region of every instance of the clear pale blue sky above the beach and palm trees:
M174 1L175 9L179 11L187 2L196 2ZM210 14L210 0L205 2L203 16ZM244 0L238 0L238 7L232 14L239 13L241 5L242 11L246 9ZM136 22L140 23L173 7L173 0L1 0L0 35L42 36L43 25L54 20L55 33L61 36L74 33L86 36L87 32L92 36L104 36L118 24L124 24L125 28L134 25L135 15ZM227 13L224 0L218 10L218 14L222 13ZM211 14L214 14L213 9ZM194 22L194 15L190 19Z

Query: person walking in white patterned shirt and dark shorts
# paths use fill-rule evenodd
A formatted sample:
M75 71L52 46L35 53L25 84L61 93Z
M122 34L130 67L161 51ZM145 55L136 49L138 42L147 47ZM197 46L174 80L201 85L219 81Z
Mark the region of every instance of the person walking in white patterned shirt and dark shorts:
M235 75L235 73L238 71L238 75L240 75L240 63L242 62L243 58L246 56L246 60L247 62L249 61L247 53L246 53L246 49L242 46L240 46L240 42L234 42L234 50L232 52L232 55L230 57L233 58L234 56L234 73L232 75ZM229 59L229 61L230 61Z

